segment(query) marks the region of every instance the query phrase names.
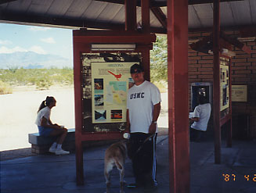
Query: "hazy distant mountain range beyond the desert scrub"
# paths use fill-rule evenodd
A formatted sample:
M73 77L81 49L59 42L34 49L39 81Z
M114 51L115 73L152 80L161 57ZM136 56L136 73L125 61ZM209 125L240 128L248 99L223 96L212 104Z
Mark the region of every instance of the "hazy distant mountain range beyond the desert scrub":
M13 52L10 54L0 54L0 69L8 68L63 68L73 67L72 59L66 59L59 55L43 55L36 52Z

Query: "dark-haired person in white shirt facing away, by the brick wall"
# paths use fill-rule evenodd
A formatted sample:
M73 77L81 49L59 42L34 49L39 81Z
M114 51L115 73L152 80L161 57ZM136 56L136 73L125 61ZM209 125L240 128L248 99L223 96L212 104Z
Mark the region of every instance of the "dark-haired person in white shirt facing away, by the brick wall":
M199 105L193 111L193 121L190 126L190 141L200 141L202 135L207 130L207 124L211 116L211 104L204 95L198 96Z

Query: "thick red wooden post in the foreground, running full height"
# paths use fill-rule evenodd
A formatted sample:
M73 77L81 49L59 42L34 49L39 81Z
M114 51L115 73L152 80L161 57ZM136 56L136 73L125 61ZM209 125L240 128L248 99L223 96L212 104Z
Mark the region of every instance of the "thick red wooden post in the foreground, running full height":
M170 192L188 193L188 1L168 0L168 113Z

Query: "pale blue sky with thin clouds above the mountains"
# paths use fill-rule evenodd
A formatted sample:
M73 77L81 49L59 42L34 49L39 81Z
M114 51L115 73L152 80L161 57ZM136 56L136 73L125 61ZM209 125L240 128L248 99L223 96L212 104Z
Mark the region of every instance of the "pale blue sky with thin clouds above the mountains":
M72 30L0 23L0 54L29 51L72 59Z

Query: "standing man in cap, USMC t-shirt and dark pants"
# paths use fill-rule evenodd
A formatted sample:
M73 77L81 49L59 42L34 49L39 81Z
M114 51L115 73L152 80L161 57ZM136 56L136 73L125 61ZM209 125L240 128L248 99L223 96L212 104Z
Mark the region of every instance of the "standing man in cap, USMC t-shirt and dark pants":
M141 65L131 67L131 76L135 84L128 90L127 128L131 134L131 159L135 184L156 187L156 140L157 118L160 114L160 91L152 83L144 80Z

